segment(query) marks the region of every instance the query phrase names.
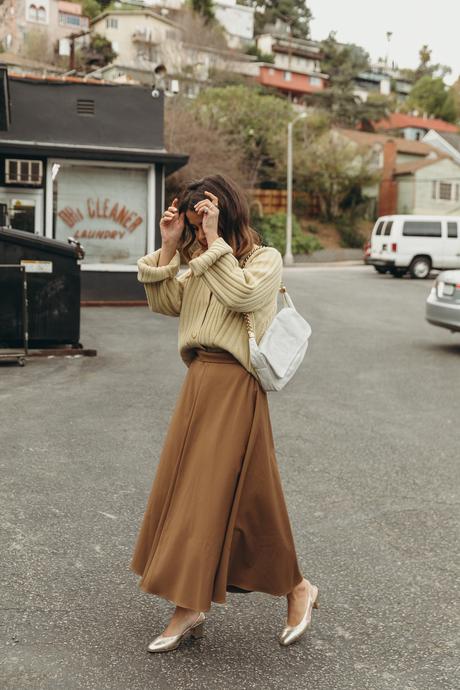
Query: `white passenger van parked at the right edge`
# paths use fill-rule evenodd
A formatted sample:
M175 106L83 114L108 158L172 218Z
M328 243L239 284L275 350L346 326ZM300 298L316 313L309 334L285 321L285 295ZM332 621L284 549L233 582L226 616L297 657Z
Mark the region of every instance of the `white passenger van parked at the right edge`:
M428 278L432 268L460 268L460 216L381 216L365 263L400 278Z

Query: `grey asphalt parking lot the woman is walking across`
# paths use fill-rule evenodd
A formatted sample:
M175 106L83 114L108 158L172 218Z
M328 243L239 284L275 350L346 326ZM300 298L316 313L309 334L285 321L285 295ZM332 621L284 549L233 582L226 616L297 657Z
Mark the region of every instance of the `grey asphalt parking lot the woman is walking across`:
M85 308L97 357L0 369L2 689L459 687L460 337L425 322L431 281L285 279L313 335L270 408L312 628L280 647L285 599L229 594L203 639L146 652L172 605L128 563L185 375L177 321Z

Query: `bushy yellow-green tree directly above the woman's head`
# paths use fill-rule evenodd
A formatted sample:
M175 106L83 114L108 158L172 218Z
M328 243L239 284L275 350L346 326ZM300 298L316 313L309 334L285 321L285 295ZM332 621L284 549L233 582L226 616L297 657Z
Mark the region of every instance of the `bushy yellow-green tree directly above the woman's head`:
M209 88L193 102L193 111L244 155L249 184L286 179L286 127L291 104L254 87ZM203 142L205 145L205 142ZM209 151L212 156L212 151Z

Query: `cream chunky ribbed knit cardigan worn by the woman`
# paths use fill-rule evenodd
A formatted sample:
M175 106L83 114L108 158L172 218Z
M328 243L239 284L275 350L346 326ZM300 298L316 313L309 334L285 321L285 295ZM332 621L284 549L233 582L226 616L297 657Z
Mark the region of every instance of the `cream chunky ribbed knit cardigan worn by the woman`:
M277 293L283 262L273 247L254 252L241 268L222 237L189 261L177 276L180 256L158 266L161 249L140 258L137 279L144 283L149 309L179 316L179 353L190 365L196 347L217 347L231 352L253 375L243 312L253 312L257 342L277 311Z

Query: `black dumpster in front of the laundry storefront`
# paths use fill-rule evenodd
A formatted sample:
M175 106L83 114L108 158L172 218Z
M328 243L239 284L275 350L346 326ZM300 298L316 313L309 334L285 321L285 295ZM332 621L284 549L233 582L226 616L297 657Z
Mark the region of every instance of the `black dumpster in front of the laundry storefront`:
M25 265L29 347L81 347L80 265L75 244L0 228L0 264ZM0 347L23 345L22 271L0 268Z

